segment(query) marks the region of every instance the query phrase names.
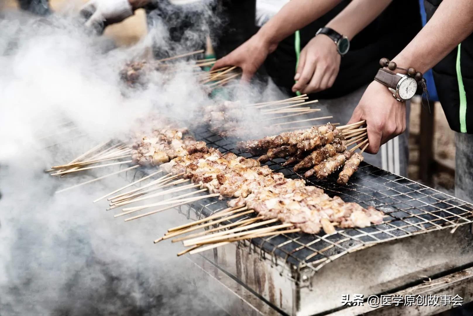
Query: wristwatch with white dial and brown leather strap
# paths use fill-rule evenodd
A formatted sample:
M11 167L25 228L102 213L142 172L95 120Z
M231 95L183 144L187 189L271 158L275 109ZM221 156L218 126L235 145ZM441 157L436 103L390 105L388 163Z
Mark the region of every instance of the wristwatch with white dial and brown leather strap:
M410 100L417 91L417 81L414 78L384 68L378 70L375 81L385 85L393 93L393 97L401 102Z

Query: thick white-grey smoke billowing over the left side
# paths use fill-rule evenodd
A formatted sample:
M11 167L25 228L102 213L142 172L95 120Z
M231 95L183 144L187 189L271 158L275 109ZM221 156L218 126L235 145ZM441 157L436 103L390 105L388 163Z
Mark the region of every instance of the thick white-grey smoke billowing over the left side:
M129 183L118 177L54 194L112 169L61 179L43 171L124 138L149 113L189 121L209 102L186 71L157 72L141 89L121 81L119 70L149 42L169 46L159 36L166 30L158 23L152 39L111 49L67 16L12 13L0 29L0 315L221 313L189 281L188 260L175 257L182 248L152 243L184 217L169 211L124 223L91 203Z

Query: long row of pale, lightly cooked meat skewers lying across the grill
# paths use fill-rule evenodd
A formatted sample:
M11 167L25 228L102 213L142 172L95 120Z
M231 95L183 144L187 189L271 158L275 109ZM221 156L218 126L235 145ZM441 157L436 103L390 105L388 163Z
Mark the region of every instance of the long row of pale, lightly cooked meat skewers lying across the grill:
M138 153L146 151L148 154L150 148L147 144L146 142L142 143L135 150ZM207 240L210 237L202 238L203 236L199 237L198 242L194 239L186 240L184 245L192 246L193 250L197 250L197 246L200 247L209 243L229 242L228 239L236 237L260 236L259 233L278 234L280 228L290 228L291 232L302 231L311 234L319 233L321 229L324 229L325 233L331 234L335 232L334 227L336 226L340 228L367 227L371 223L378 224L383 219L383 214L374 208L364 209L357 203L345 203L337 196L331 198L322 189L306 186L302 179L286 179L283 174L272 172L268 166L262 166L258 160L238 157L231 152L222 154L217 149L207 147L198 147L197 149L192 142L188 145L182 145L181 148L187 151L187 154L173 158L169 162L155 159L138 160L139 163L141 161L141 163L147 165L149 163L153 166L159 165L159 171L166 173L165 176L161 176L157 180L127 193L109 197L125 187L120 188L94 202L109 197L108 200L111 201L109 210L111 210L135 202L154 199L158 196L162 197L166 194L198 188L199 190L193 190L190 193L174 196L164 201L125 207L115 217L167 205L164 208L127 218L125 221L139 219L212 197L233 198L233 200L228 201L228 205L231 207L228 214L222 212L219 215L220 219L216 219L210 225L229 219L237 219L248 214L257 215L252 219L245 219L243 223L225 225L225 228L236 225L238 227L225 233L220 232L217 236L210 236L212 242ZM159 157L161 157L160 155ZM172 188L169 189L170 186ZM166 187L168 189L162 191ZM193 196L198 193L205 193L205 195ZM215 217L213 218L215 219ZM210 219L206 219L206 221L210 221ZM276 224L278 221L282 223L266 227L266 225ZM243 225L244 223L251 226ZM264 228L258 228L262 230L257 231L247 230L260 226L264 226ZM172 230L157 241L176 237L199 228L202 227L192 225L192 227L186 226L185 229ZM236 235L230 235L231 233ZM195 234L192 237L195 237ZM187 237L184 237L184 239L187 239ZM184 239L181 237L177 241ZM194 242L196 243L193 244Z

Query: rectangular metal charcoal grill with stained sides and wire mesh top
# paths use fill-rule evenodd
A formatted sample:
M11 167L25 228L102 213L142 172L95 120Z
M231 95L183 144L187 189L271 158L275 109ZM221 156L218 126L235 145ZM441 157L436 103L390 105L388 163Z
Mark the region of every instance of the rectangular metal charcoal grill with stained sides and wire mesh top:
M222 152L251 157L236 149L236 140L206 129L194 134ZM267 165L288 178L301 177L291 167L283 167L283 162L285 159L279 158ZM307 184L323 188L330 196L339 195L346 202L385 212L385 222L368 228L337 229L330 236L321 232L254 238L190 256L191 260L208 274L209 284L219 283L217 289L233 287L230 291L249 306L243 315L303 316L337 311L345 315L343 312L351 313L355 307L341 306L344 294L367 298L392 293L422 283L427 276L473 263L472 204L364 162L347 186L335 180L306 179ZM226 207L225 201L201 200L180 211L195 220ZM465 301L471 299L463 295ZM230 313L231 309L242 310L239 304L227 308ZM375 315L382 315L381 311Z

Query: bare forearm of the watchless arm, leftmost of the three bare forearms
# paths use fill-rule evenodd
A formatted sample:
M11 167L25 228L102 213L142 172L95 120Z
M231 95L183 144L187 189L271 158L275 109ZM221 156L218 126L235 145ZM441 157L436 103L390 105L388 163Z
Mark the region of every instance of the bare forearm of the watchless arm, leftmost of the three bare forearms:
M342 0L291 0L258 32L270 44L279 44L298 29L322 17Z

